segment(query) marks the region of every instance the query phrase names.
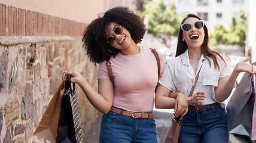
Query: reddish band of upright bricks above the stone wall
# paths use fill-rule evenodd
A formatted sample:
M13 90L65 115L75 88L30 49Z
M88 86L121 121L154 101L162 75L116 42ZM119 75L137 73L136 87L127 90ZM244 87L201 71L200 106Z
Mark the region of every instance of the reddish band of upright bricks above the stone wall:
M81 36L83 23L0 5L0 36ZM72 28L71 28L72 27Z

